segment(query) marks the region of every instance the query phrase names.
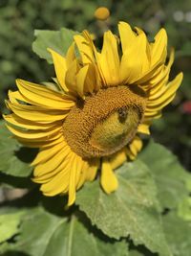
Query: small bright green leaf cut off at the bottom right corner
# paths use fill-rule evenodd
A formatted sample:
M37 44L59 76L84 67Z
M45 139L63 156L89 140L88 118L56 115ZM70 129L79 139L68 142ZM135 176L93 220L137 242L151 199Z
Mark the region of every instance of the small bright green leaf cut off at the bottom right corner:
M183 221L174 211L163 217L166 239L174 256L190 256L191 221Z

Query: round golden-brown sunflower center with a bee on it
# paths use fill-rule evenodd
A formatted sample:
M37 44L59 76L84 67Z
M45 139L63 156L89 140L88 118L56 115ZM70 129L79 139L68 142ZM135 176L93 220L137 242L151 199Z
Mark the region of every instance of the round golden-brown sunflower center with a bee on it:
M63 124L65 140L83 158L110 155L135 136L146 97L138 86L109 87L76 104Z

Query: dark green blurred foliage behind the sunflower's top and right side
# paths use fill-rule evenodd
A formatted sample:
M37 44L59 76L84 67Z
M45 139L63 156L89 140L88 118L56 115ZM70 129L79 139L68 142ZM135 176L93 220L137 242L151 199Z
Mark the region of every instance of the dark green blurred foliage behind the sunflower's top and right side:
M15 89L16 78L48 81L53 67L32 52L33 32L88 29L92 33L103 25L96 21L97 7L105 6L111 16L107 26L117 32L117 22L129 22L144 29L149 38L164 27L169 48L176 49L171 78L183 71L184 79L173 104L152 127L156 141L168 147L187 169L191 166L191 1L190 0L0 0L0 104L8 89Z

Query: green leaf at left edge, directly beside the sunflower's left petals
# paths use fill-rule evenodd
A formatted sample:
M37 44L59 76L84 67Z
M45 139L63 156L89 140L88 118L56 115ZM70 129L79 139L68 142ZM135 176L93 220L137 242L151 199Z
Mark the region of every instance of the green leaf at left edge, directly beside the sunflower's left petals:
M0 172L13 176L28 176L32 173L32 167L27 162L32 161L33 152L22 148L3 121L0 122ZM22 161L21 158L25 161Z

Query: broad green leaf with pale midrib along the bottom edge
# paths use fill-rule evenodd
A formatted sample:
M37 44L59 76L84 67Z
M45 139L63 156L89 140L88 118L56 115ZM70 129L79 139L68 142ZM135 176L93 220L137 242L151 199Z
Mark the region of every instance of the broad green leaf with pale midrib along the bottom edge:
M29 210L10 249L31 256L128 256L126 243L105 243L74 215L69 220L42 208Z

